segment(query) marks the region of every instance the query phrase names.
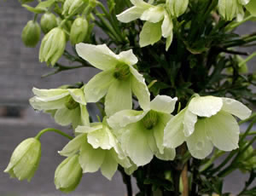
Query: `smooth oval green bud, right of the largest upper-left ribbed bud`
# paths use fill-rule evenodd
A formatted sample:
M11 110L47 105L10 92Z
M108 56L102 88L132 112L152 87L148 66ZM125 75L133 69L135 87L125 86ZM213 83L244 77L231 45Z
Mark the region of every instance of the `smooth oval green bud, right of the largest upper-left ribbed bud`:
M88 22L86 19L79 17L73 21L70 31L70 41L71 43L77 44L84 41L88 32Z

